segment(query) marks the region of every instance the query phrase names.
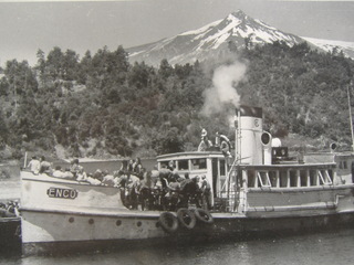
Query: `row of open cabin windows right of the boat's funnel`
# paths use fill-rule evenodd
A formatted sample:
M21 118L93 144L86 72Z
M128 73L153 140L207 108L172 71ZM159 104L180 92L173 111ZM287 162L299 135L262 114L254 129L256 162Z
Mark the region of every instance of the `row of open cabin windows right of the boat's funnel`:
M248 187L295 188L315 187L333 183L332 170L283 170L256 171L248 170Z

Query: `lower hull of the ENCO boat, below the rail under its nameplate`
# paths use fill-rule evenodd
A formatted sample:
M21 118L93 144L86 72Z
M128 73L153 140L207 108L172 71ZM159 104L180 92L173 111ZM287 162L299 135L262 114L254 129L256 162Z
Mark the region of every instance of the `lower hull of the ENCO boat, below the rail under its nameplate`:
M87 251L125 250L143 245L186 244L208 241L242 241L262 236L326 232L353 227L354 213L292 218L246 218L212 213L214 224L197 223L192 230L180 225L166 233L158 224L159 212L137 215L42 212L23 210L22 253L55 254ZM70 221L72 220L72 221Z

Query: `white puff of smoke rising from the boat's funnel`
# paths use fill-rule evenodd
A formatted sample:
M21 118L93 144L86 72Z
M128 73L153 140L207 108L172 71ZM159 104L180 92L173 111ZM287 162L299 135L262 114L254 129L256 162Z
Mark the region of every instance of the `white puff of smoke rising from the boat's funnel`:
M230 104L235 107L240 106L240 96L235 86L243 78L246 68L246 65L239 62L216 68L212 76L214 86L205 92L201 110L204 115L225 112L225 106Z

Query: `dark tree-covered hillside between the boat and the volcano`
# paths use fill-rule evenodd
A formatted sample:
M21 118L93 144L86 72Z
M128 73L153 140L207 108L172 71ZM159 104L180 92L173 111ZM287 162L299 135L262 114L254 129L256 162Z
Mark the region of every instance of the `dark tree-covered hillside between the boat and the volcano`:
M8 61L0 72L0 158L25 150L65 157L154 157L195 150L200 129L233 139L226 104L205 115L205 92L220 65L244 65L232 85L240 103L263 108L275 137L351 146L347 87L354 63L306 44L232 49L218 62L159 67L128 62L122 46L80 59L54 47L30 67ZM304 145L305 142L303 142ZM321 149L324 146L316 146Z

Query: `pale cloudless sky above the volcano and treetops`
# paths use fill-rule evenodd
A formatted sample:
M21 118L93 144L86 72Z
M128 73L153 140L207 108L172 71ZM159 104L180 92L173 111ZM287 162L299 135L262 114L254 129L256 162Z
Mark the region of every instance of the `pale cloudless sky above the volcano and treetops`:
M174 36L241 9L288 33L354 42L354 1L289 0L0 0L0 65L37 62L59 46L81 57L107 46L131 47Z

